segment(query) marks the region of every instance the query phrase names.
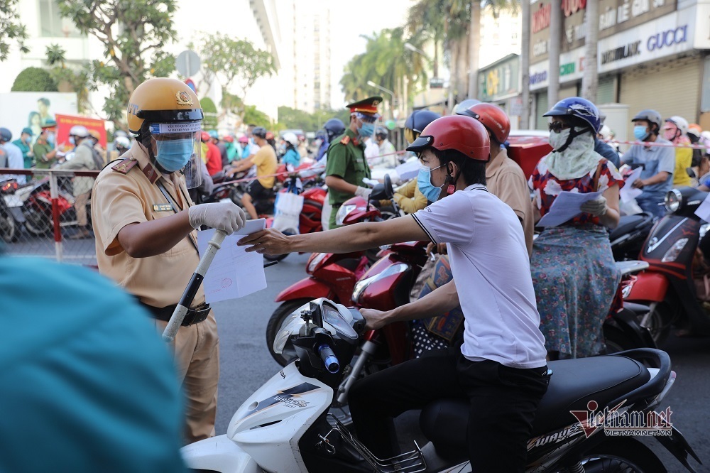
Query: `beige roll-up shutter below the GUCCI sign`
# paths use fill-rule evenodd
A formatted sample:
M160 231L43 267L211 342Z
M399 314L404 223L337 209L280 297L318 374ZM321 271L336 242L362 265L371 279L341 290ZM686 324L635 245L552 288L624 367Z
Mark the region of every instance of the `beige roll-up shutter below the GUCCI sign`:
M689 123L698 119L699 77L702 61L697 55L644 67L634 67L621 74L621 103L628 104L631 116L643 109L654 109L663 118L680 115ZM628 124L628 136L633 136Z

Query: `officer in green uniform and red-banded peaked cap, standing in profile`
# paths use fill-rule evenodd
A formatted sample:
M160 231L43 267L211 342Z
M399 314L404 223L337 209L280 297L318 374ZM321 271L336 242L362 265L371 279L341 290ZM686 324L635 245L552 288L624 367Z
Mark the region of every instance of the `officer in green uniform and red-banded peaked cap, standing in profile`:
M370 177L370 166L365 159L364 138L375 132L375 122L380 117L377 106L382 97L367 99L349 104L350 126L345 134L335 138L328 148L325 166L325 183L328 186L330 205L330 229L339 227L335 224L340 206L346 200L359 195L365 200L370 196L370 189L363 187L363 178Z

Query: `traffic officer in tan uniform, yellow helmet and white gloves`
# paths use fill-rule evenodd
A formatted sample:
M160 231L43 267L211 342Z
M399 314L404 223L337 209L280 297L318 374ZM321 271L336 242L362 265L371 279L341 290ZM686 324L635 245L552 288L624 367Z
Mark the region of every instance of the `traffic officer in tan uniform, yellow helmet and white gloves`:
M136 296L159 332L200 262L195 229L204 224L231 234L246 219L232 202L195 205L187 193L202 177L201 147L195 140L202 118L200 101L185 83L168 78L143 82L128 106L129 131L136 141L94 184L99 272ZM184 440L190 443L214 435L217 412L217 322L202 288L174 349L187 398Z

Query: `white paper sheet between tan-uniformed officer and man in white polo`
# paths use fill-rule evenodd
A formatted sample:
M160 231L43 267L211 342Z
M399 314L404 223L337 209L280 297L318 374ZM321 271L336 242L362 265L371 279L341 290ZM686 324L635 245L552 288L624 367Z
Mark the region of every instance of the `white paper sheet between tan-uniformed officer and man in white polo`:
M222 248L214 255L212 264L204 275L204 298L207 303L220 300L242 298L266 288L264 274L264 259L262 254L246 252L246 246L237 246L244 235L266 228L265 219L248 220L244 228L227 237L222 242ZM214 229L197 232L197 247L200 257L207 249L209 240L214 235Z

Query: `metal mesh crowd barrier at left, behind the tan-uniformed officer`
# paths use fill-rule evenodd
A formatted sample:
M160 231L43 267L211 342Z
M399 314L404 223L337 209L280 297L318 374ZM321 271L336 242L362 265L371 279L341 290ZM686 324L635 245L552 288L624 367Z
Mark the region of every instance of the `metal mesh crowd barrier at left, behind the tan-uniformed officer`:
M83 235L73 180L98 174L98 170L0 168L0 246L6 254L96 266L91 200L85 207L89 236L77 238Z

